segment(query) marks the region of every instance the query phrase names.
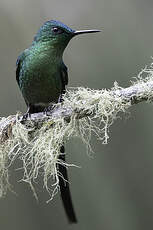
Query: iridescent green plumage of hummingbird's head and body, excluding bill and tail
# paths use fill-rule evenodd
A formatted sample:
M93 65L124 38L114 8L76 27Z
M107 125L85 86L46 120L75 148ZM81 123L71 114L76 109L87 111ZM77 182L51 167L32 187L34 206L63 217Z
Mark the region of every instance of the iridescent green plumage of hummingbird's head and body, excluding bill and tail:
M17 60L17 81L31 113L56 103L68 83L62 56L74 31L65 26L55 34L55 26L55 21L46 22Z

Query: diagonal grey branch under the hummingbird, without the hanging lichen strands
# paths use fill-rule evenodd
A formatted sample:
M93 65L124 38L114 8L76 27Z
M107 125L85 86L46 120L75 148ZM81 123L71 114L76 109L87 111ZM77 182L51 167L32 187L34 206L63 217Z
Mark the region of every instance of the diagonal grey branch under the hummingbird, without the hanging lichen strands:
M145 69L140 73L140 76L142 73L148 73L150 75L152 74L152 70ZM56 121L56 119L61 117L69 121L71 116L74 115L76 115L76 119L95 115L92 108L90 108L91 110L87 108L86 102L91 104L92 107L93 103L97 103L98 105L99 101L103 102L108 99L108 104L105 102L106 107L109 107L109 104L114 100L120 101L120 103L123 104L123 107L126 107L128 104L129 108L131 105L143 101L150 101L152 98L153 77L149 76L144 79L139 77L136 82L133 82L132 85L127 88L119 87L116 82L114 83L114 87L111 90L91 90L89 88L83 87L73 88L73 90L67 91L66 95L64 96L66 102L54 105L54 109L49 109L44 113L40 112L31 114L30 117L28 117L26 120L22 120L23 116L19 114L18 119L22 124L26 124L26 122L28 123L29 121L34 121L36 124L49 120ZM67 100L69 100L69 102ZM0 122L0 131L7 129L8 126L15 122L16 115L11 115L7 119L3 118Z

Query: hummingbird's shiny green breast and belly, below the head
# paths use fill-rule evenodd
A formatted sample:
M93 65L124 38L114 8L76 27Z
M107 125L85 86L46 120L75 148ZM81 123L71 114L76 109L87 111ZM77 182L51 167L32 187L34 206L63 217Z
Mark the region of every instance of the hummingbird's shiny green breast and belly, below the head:
M28 105L57 103L62 93L60 61L47 49L30 52L22 63L19 84Z

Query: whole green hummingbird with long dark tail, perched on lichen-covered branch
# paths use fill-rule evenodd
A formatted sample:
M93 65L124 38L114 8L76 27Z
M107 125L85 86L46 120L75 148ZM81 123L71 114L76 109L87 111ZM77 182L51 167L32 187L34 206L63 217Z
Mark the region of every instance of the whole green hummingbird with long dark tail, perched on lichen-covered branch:
M96 32L100 30L73 30L55 20L47 21L40 27L31 46L16 61L16 80L28 107L26 116L43 112L49 105L62 102L68 84L63 52L73 37ZM65 162L64 145L60 148L59 159ZM59 176L59 187L66 215L70 223L76 223L67 169L61 164L56 167L64 178Z

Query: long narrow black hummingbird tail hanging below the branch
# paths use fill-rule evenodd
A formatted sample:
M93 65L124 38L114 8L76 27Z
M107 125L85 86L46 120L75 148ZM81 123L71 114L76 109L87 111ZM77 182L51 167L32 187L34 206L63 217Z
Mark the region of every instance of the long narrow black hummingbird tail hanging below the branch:
M65 148L64 146L61 147L61 154L59 156L59 159L65 162ZM64 179L59 176L59 186L60 186L60 193L61 193L61 199L63 202L63 206L66 212L66 215L68 217L68 220L70 223L77 223L77 218L74 212L70 188L69 188L69 182L68 182L68 174L67 169L64 165L58 164L58 170L59 175L62 175Z

